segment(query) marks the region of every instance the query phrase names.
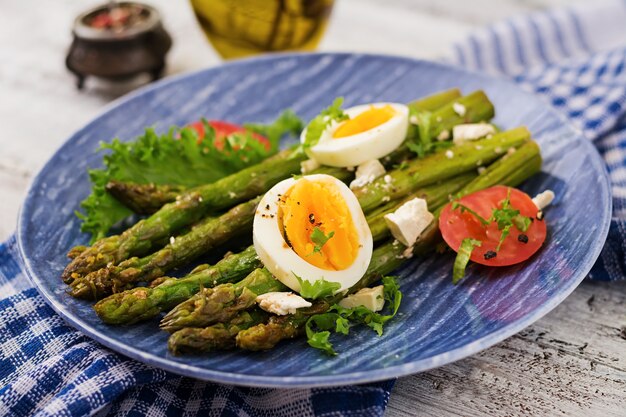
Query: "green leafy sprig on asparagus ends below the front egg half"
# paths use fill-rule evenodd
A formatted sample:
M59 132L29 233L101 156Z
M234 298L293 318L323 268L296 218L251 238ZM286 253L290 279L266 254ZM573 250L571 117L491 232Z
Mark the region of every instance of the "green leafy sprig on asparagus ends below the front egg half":
M381 336L383 325L396 315L402 301L402 293L394 277L384 277L383 288L387 301L385 306L390 310L387 315L375 313L363 306L344 308L334 304L328 312L315 314L307 320L305 328L309 346L329 355L336 355L337 352L329 340L330 331L334 330L335 333L347 335L351 324L364 324Z

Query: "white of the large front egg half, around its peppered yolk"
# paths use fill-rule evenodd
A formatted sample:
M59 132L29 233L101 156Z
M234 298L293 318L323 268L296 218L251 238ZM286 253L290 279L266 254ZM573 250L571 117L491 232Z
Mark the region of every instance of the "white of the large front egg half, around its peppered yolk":
M300 283L294 274L311 283L321 278L326 281L337 282L341 284L337 292L347 290L356 284L367 271L374 247L372 232L358 200L344 183L335 177L324 174L307 175L302 178L314 182L332 182L345 199L360 245L352 265L341 271L328 271L318 268L298 256L285 242L278 219L278 203L280 196L285 195L301 178L289 178L281 181L263 196L254 216L252 231L254 248L265 267L279 281L296 292L300 292Z

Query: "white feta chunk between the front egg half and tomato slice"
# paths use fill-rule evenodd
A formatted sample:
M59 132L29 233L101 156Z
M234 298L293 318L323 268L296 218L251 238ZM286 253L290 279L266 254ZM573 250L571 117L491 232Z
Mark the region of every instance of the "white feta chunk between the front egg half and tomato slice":
M426 200L414 198L407 201L393 213L385 215L385 222L394 238L404 246L413 246L419 235L435 219L428 211Z

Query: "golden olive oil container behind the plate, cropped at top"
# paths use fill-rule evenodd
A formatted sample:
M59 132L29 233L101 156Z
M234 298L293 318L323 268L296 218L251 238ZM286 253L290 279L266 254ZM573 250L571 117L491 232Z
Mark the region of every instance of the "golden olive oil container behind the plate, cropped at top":
M315 49L333 0L191 0L191 4L217 52L238 58Z

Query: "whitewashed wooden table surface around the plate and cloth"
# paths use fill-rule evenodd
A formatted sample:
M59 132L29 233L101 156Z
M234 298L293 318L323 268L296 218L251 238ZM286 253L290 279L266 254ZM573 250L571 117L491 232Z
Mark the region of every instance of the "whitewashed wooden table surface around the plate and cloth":
M167 73L216 65L183 1L146 0L174 37ZM590 1L590 0L578 0ZM469 31L567 0L338 0L320 49L436 58ZM64 67L81 0L0 0L0 240L15 228L32 176L69 135L132 85ZM626 416L626 282L583 283L506 341L454 364L401 378L389 416Z

